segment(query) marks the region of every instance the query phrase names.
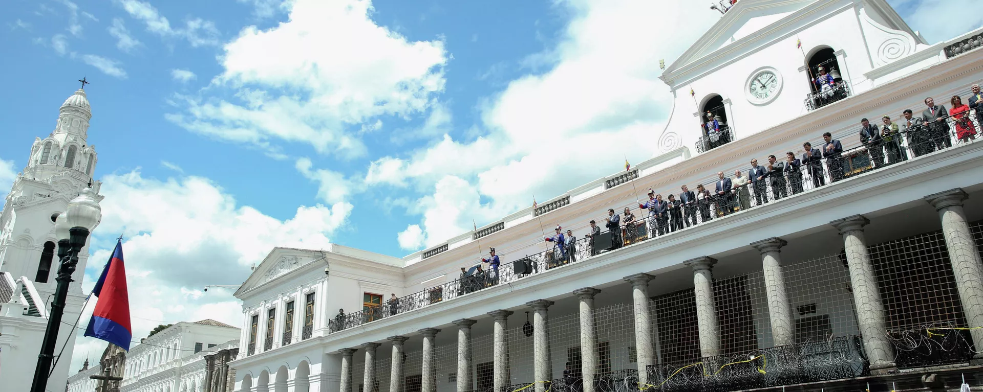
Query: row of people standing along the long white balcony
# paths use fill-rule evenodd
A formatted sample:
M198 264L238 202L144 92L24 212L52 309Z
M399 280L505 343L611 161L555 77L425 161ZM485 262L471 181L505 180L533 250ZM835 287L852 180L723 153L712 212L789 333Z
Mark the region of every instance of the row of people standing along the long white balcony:
M691 226L700 225L735 212L751 209L836 183L870 170L877 170L951 147L955 143L975 140L983 124L983 92L973 84L971 94L962 103L959 95L948 100L950 106L938 104L932 97L924 99L920 117L906 109L896 121L881 117L880 124L860 120L858 136L862 145L844 149L840 140L829 132L822 140L802 143L801 154L786 151L768 155L765 163L751 158L750 167L727 176L717 173L714 184L697 184L694 191L681 185L677 194L663 197L653 189L648 199L631 205L607 209L605 230L590 220L588 232L577 239L572 230L556 225L553 233L541 241L549 249L526 254L502 265L501 258L490 249L489 256L470 268L462 267L457 280L419 293L393 298L378 308L364 309L361 314L344 315L343 310L330 322L335 332L352 326L441 302L488 287L511 282L522 276L575 262L601 252L610 252L640 241L663 237ZM711 123L712 124L712 123ZM633 209L637 206L637 212ZM487 265L487 266L483 266ZM504 267L504 268L503 268ZM501 271L500 271L501 270Z

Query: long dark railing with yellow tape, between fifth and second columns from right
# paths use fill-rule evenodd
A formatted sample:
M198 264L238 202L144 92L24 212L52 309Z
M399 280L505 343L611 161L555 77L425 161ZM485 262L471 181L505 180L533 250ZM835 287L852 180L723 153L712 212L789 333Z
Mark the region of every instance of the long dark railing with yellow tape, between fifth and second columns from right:
M655 388L648 389L725 392L858 377L869 373L860 342L845 336L699 363L650 364L648 381Z

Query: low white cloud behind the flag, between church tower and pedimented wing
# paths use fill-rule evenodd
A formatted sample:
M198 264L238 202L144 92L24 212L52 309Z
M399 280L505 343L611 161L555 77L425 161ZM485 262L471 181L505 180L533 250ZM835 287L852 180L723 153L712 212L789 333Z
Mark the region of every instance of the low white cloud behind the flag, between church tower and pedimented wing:
M239 205L208 179L181 176L166 181L145 178L140 171L102 179L102 222L89 257L84 288L101 270L123 234L135 339L160 323L214 318L241 324L242 306L228 290L208 290L210 284L237 284L250 274L273 247L321 249L351 213L351 204L297 208L279 220ZM87 315L83 316L87 319ZM85 353L95 351L93 340L79 338L73 367Z

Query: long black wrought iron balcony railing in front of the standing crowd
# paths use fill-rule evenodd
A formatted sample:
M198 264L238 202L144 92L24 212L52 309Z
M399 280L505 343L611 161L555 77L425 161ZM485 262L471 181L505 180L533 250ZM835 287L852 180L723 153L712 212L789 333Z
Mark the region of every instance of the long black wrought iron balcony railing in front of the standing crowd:
M875 144L847 148L839 153L830 152L825 157L818 157L791 170L779 171L776 162L775 165L771 165L776 170L764 178L754 179L754 182L725 190L720 195L716 193L716 183L707 184L705 186L707 191L702 196L698 189L693 187L692 191L697 199L689 203L678 202L661 213L633 209L632 212L636 214L635 219L628 222L626 217L622 217L621 225L615 232L606 231L599 236L584 237L567 244L562 249L546 243L548 247L546 251L518 256L514 261L501 264L497 271L486 269L472 275L460 276L454 281L426 288L395 301L387 301L376 308L335 316L328 322L328 333L453 300L502 283L515 282L526 276L543 273L571 262L616 251L623 246L671 235L690 226L722 219L745 209L902 163L910 157L949 148L959 143L954 141L956 140L954 132L970 126L979 129L976 118L970 115L966 114L958 120L959 124L956 124L954 118L949 118L944 123L937 122L914 128L906 133L891 134ZM897 123L903 122L904 120L901 119ZM816 148L822 150L824 146L818 143ZM768 168L770 164L765 162L762 166ZM743 177L747 177L747 171L742 173ZM499 254L499 257L503 256L505 255ZM307 333L305 329L305 334ZM305 339L307 337L305 335Z

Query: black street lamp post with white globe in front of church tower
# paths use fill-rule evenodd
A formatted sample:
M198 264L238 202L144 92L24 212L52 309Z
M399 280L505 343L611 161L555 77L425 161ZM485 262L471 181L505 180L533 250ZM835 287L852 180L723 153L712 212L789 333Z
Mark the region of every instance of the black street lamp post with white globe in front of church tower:
M34 382L31 392L45 392L48 375L51 373L51 361L54 359L55 346L58 343L58 329L61 326L62 313L65 311L65 299L68 297L68 286L73 282L72 273L79 263L79 252L86 246L88 234L99 224L102 209L99 201L92 192L91 184L79 196L68 203L67 211L55 219L55 236L58 237L58 285L55 289L55 299L48 313L48 328L44 331L44 341L41 343L41 353L37 356L37 367L34 368Z

